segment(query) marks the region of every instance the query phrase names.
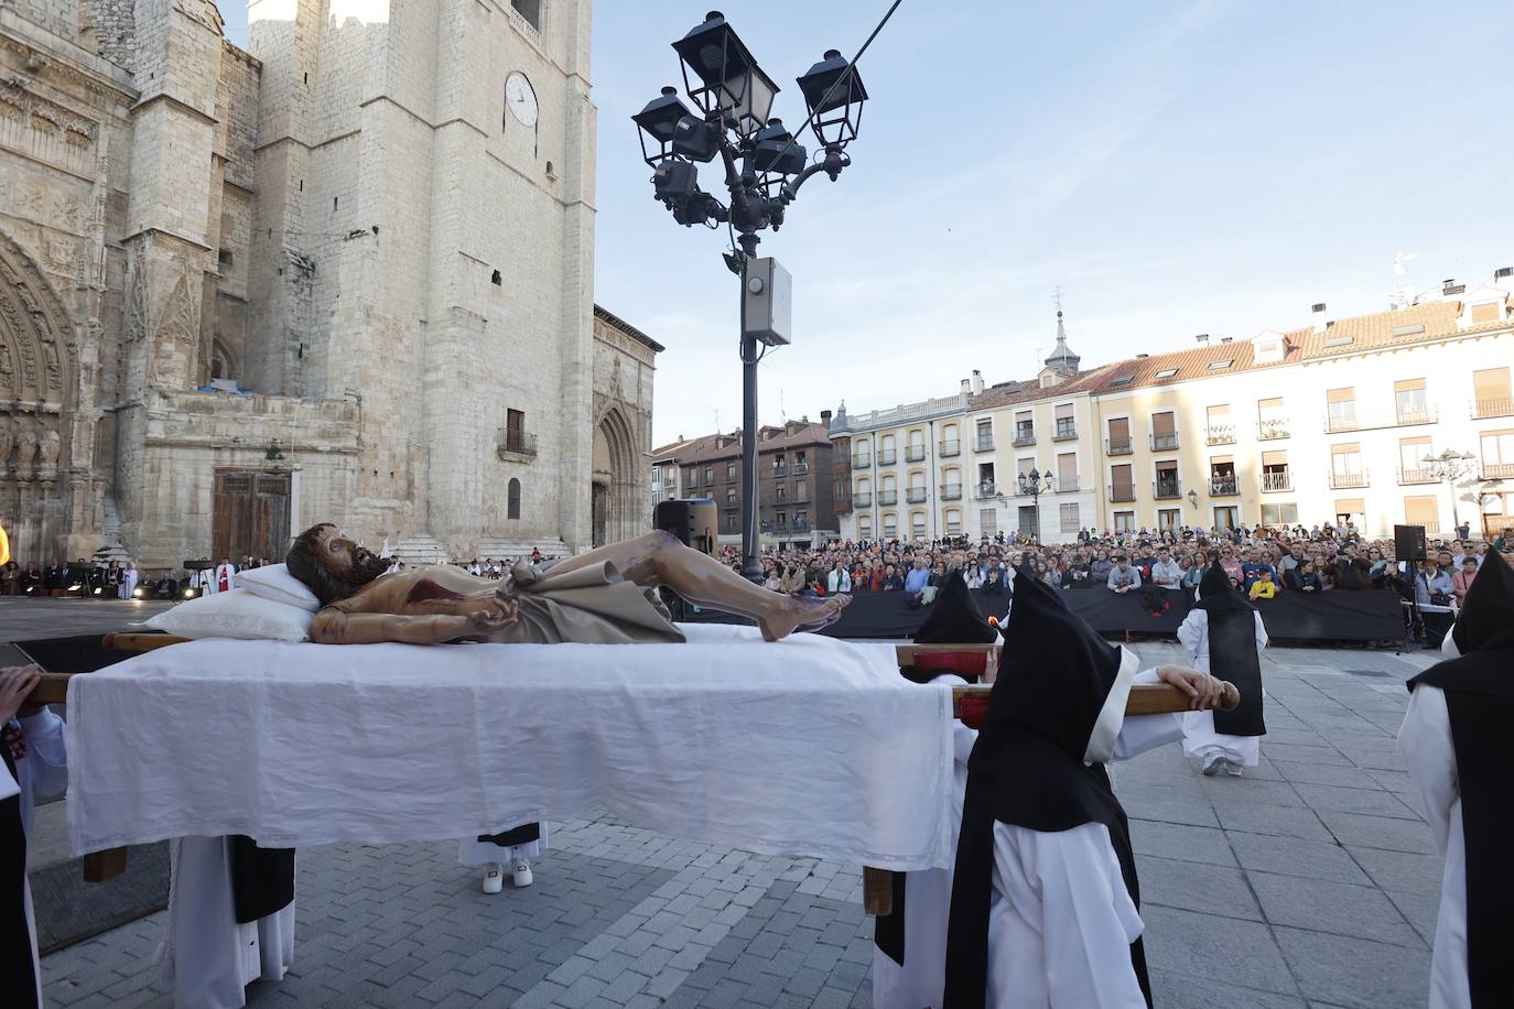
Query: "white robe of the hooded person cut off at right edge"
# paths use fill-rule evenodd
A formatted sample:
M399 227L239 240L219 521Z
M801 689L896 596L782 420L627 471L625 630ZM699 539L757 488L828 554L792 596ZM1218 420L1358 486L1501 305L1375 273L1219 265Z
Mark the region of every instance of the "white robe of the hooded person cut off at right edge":
M1446 638L1450 640L1450 635ZM1467 977L1467 846L1461 834L1461 788L1456 784L1456 752L1450 743L1450 714L1446 711L1446 691L1440 687L1414 688L1399 728L1399 752L1420 791L1435 847L1446 859L1429 962L1428 1004L1431 1009L1464 1009L1472 1004Z

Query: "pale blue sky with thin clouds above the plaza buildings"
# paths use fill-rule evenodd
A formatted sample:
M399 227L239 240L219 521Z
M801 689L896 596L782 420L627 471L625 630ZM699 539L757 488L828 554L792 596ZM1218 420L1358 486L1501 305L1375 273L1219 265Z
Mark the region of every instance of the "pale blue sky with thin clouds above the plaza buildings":
M595 298L668 346L654 439L740 422L725 233L651 197L630 115L678 83L707 5L600 0ZM802 120L793 77L851 56L886 0L725 0ZM245 12L233 12L245 21ZM1506 0L904 0L863 57L854 165L765 233L793 274L793 345L760 419L887 407L1030 377L1061 287L1084 363L1381 310L1514 265Z

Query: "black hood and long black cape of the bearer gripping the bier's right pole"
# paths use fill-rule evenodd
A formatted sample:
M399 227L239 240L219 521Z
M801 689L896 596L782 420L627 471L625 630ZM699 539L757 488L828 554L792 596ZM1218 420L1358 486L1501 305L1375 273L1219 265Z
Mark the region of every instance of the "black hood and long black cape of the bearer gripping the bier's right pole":
M989 717L967 764L946 939L946 1006L984 1004L993 824L1061 832L1102 823L1140 905L1125 811L1104 762L1125 717L1136 657L1107 644L1057 591L1017 573ZM1137 939L1131 962L1151 1001Z

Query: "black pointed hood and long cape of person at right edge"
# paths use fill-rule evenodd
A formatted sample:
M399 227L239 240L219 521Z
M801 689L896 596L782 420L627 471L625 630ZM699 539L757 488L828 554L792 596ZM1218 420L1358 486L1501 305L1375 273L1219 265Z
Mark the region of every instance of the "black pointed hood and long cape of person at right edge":
M1410 681L1446 691L1456 753L1461 827L1467 847L1467 980L1475 1009L1514 1006L1514 570L1497 555L1482 563L1450 632L1458 658ZM1450 649L1447 649L1450 650Z

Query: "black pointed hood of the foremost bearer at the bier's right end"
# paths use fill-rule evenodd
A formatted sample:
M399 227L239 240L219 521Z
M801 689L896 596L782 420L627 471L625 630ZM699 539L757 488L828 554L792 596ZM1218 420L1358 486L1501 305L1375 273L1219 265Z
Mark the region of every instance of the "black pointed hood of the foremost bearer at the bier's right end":
M1016 573L987 725L1030 729L1083 761L1120 655L1054 588Z

